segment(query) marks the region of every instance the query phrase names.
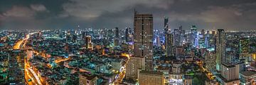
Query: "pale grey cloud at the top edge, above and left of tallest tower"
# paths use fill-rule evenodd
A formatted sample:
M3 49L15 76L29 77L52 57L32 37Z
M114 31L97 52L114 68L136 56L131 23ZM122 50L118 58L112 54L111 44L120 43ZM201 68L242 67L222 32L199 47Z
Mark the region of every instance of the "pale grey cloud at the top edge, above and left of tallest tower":
M64 4L65 13L84 19L98 18L102 13L117 13L142 5L149 8L167 9L174 0L71 0Z

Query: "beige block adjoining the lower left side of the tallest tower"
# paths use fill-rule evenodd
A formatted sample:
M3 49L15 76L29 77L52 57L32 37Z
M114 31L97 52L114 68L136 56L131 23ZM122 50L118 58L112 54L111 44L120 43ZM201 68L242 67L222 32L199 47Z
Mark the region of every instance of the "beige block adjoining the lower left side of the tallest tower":
M145 58L144 57L130 57L129 62L127 63L127 71L125 77L137 79L139 69L145 69Z

